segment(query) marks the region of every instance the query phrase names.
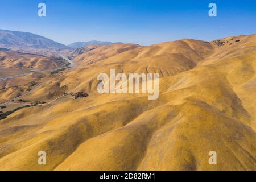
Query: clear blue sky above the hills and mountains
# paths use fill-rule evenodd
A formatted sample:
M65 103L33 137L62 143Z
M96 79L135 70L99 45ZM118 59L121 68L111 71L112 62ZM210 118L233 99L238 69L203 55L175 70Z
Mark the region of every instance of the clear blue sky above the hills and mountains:
M38 3L47 6L38 16ZM210 2L217 17L208 15ZM149 45L256 33L255 0L1 0L0 29L32 32L63 44L102 40Z

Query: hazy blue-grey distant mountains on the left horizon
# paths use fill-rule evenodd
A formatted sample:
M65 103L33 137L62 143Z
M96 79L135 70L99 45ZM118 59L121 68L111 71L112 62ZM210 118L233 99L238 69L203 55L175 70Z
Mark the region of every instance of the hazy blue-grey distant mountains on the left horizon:
M75 42L65 46L64 44L57 43L51 39L29 32L0 30L0 48L7 48L13 51L26 53L36 53L40 55L56 56L57 52L68 53L73 49L80 49L85 46L106 46L110 44L122 43L92 40L88 42Z

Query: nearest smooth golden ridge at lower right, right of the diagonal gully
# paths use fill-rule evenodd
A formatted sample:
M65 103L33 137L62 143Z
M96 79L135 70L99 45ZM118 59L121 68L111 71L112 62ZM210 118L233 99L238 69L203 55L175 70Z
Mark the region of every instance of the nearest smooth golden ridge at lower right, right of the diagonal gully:
M219 69L225 68L202 67L162 79L165 104L86 140L56 169L255 169L254 112L246 111ZM250 97L255 100L255 94ZM216 166L208 163L212 150L218 154Z

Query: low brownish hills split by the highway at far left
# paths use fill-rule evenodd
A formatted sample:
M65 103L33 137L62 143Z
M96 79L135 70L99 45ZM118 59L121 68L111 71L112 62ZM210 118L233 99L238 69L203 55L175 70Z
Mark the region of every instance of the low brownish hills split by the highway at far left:
M0 104L12 100L26 92L31 82L38 82L46 77L46 73L36 71L49 71L66 67L67 61L42 55L20 53L11 50L0 50ZM9 76L27 74L22 77L1 80Z

